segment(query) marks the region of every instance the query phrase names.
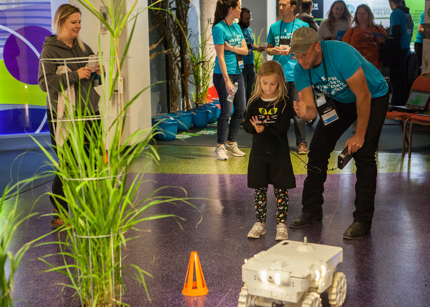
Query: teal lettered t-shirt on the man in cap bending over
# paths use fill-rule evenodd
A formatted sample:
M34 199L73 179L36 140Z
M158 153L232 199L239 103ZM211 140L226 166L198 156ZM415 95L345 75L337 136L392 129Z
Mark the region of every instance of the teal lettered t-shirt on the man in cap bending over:
M361 67L372 98L387 94L387 81L384 80L378 68L363 58L357 49L347 43L335 40L320 41L320 43L324 62L321 61L317 68L310 68L310 76L312 77L312 84L321 92L329 97L331 92L332 98L340 102L356 102L357 98L346 80ZM324 63L327 75L324 70ZM299 92L311 86L309 70L305 70L300 64L294 68L294 84Z

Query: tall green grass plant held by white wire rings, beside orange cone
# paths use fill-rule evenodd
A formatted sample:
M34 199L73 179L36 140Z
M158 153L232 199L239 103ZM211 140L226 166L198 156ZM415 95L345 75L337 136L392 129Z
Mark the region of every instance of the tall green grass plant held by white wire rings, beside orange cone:
M80 3L97 16L111 34L110 55L99 61L100 66L104 64L107 68L106 77L101 74L101 79L103 100L108 105L114 86L106 80L121 77L121 68L136 18L142 10L135 9L137 1L128 10L125 1L106 3L112 20L112 25L109 25L88 0ZM125 50L120 52L120 35L126 25L129 25L131 31ZM68 127L68 136L64 140L64 146L56 148L58 162L39 144L56 169L52 171L52 175L58 175L63 183L64 196L47 194L57 201L59 215L65 223L59 230L59 236L60 233L66 234L66 239L58 239L56 242L60 246L60 252L45 255L40 260L51 267L47 271L56 271L69 277L70 282L62 286L73 289L74 303L80 303L83 307L129 306L122 301L126 291L122 272L126 268L135 270L135 276L149 299L145 276L151 274L135 264L123 264L122 250L133 239L127 231L139 230L139 223L157 218L172 217L181 220L172 214L145 215L152 206L161 203L193 206L188 202L185 191L182 198L160 196L163 187L141 199L139 190L145 182L144 175L129 174L132 164L141 155L149 160L160 160L157 151L150 144L153 136L151 129L138 130L123 140L124 117L130 105L146 89L142 89L129 102L124 102L121 94L120 112L113 119L103 114L101 117L94 117L88 107L84 107L85 111L81 114L75 112L70 103L66 104L70 118L62 123ZM63 95L68 100L64 90ZM82 97L86 95L77 97L77 110L81 110L82 105L89 105ZM103 113L104 108L100 110ZM111 120L109 126L107 120ZM58 200L67 203L68 211ZM50 260L52 256L58 255L64 260L64 265L60 267Z

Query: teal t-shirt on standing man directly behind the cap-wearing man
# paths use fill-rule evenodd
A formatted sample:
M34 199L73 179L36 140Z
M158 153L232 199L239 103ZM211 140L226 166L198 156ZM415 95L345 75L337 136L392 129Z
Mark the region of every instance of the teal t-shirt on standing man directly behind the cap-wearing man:
M291 22L282 22L281 19L270 26L266 41L268 44L279 46L279 38L291 39L293 32L301 27L309 27L309 24L298 18L294 18L294 21ZM282 65L285 80L293 81L293 71L297 61L293 60L291 55L273 55L273 60Z

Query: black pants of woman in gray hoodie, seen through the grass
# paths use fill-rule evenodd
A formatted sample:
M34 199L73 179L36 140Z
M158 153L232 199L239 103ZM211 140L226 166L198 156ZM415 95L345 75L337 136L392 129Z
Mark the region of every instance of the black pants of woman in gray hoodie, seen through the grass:
M55 140L55 137L54 137L54 130L56 129L56 123L52 122L51 111L46 110L46 114L48 116L49 133L51 134L51 144L52 144L52 146L54 148L56 148L57 147L57 141ZM100 112L97 111L97 112L95 112L94 115L100 115ZM54 120L55 119L56 119L56 117L54 116ZM96 121L98 122L98 125L100 125L100 120L96 120ZM92 130L93 120L87 120L86 123L87 123L87 127L88 127L89 131L91 131ZM86 137L84 138L84 141L85 141L86 144L88 144L88 142L89 142ZM63 146L70 146L69 144L70 143L69 143L68 139L66 139L64 141L64 145ZM87 146L84 146L84 148L85 148L86 154L88 155L89 148ZM64 191L63 191L63 183L61 182L61 179L60 179L60 177L58 177L58 175L55 175L54 181L52 181L52 193L54 193L56 195L59 195L59 196L62 196L62 197L65 197L64 196ZM56 210L58 210L58 207L57 207L57 203L55 202L55 200L57 200L57 202L61 206L64 207L64 209L66 210L66 212L68 211L68 205L67 205L67 203L64 200L62 200L60 198L55 198L54 199L54 197L52 197L52 196L49 196L49 200L51 200L52 206L54 206L54 208Z

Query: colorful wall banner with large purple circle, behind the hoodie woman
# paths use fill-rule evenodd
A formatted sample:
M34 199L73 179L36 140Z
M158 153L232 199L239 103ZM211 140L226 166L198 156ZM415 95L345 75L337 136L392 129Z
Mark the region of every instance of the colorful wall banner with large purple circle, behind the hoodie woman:
M48 132L39 56L51 35L51 3L0 3L0 137Z

